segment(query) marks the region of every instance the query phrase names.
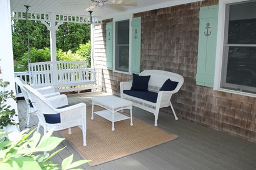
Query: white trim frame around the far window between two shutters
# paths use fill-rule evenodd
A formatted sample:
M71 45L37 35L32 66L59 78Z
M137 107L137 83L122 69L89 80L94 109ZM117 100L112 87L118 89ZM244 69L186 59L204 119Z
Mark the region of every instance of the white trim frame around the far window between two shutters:
M124 21L124 20L127 20L129 19L129 70L128 72L122 72L122 71L119 71L119 70L116 70L115 69L115 22L118 22L118 21ZM132 14L131 15L119 15L117 17L114 17L113 18L113 72L116 72L116 73L122 73L122 74L131 74L131 47L132 47L132 44L131 44L131 41L132 41L132 26L131 26L131 23L132 23Z

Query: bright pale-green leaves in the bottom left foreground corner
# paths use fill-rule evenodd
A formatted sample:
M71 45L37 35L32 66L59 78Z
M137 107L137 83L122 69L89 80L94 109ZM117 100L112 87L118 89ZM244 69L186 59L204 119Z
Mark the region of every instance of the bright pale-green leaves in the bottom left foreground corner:
M52 137L50 130L42 136L35 130L24 130L19 133L15 141L6 140L3 132L0 131L0 167L1 169L59 169L58 164L49 161L62 149L53 152L51 155L40 154L42 151L52 151L64 138ZM27 133L28 132L28 133ZM32 137L31 137L32 135ZM88 160L73 161L73 155L65 158L62 162L62 169L71 169L89 162Z

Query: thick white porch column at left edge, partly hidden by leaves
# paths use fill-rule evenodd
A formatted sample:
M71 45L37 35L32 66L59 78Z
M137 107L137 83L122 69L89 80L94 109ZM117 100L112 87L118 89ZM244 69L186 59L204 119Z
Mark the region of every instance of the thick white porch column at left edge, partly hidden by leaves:
M12 52L12 32L11 32L11 9L10 0L0 1L0 67L2 74L0 74L0 79L4 81L9 81L9 86L5 90L14 90L15 92L15 81L14 81L14 56ZM16 114L18 114L17 104L14 100L9 98L7 100L7 105L14 108ZM18 123L18 117L14 117L16 123ZM12 129L13 128L13 129ZM17 130L16 127L11 127L11 131ZM15 132L9 135L10 140L14 140L16 137Z

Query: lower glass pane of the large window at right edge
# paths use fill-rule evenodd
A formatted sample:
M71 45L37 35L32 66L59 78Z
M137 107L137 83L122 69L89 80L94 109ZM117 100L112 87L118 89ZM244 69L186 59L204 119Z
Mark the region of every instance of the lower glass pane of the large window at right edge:
M226 83L256 87L256 47L230 47Z

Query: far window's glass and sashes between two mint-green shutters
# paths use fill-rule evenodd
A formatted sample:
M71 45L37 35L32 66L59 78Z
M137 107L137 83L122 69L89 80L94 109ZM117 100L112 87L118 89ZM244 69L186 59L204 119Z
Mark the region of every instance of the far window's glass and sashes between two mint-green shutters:
M129 20L115 22L115 70L129 72Z

